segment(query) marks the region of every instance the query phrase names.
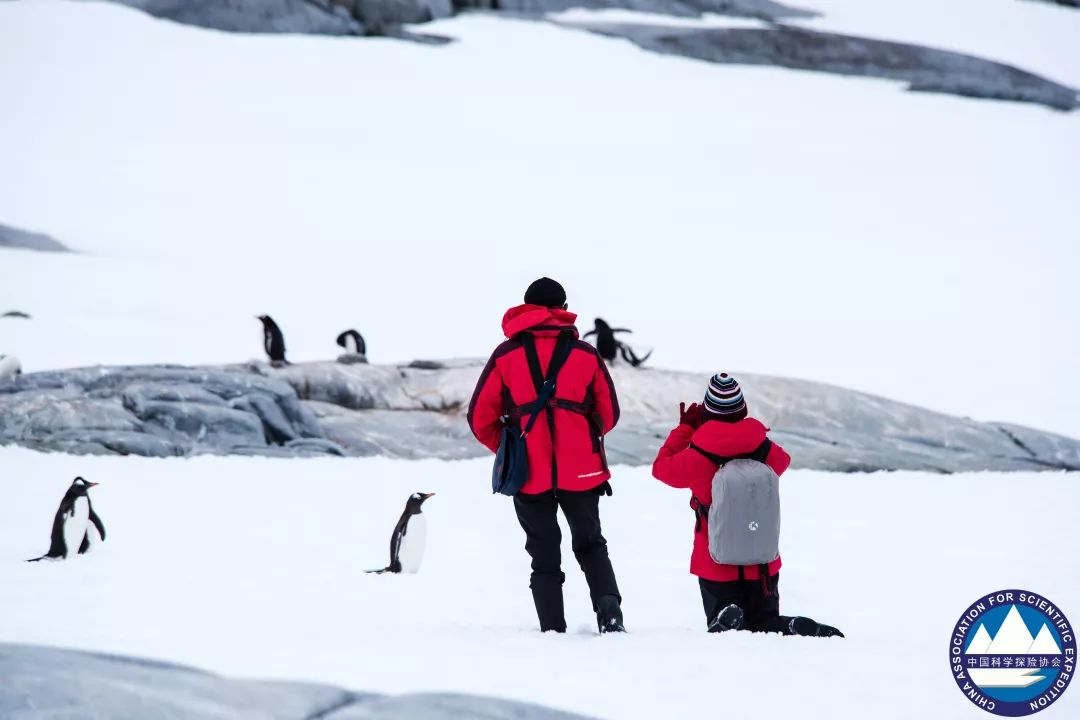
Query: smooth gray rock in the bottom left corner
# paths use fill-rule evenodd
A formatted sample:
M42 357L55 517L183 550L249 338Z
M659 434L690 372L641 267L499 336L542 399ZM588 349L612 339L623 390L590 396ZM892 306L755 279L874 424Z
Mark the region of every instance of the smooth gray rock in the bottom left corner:
M158 661L12 643L0 643L0 678L4 720L588 720L477 695L380 695L233 680Z

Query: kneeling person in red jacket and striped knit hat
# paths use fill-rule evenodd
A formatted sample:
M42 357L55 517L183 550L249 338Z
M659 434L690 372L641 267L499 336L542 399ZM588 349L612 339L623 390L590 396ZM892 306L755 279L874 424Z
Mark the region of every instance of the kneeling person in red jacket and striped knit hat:
M679 424L652 463L652 476L673 488L689 489L697 514L690 572L698 575L710 633L748 629L757 633L840 636L835 627L809 617L780 614L780 556L767 566L720 565L708 553L708 514L713 476L725 459L755 454L779 476L792 464L780 445L766 444L768 429L746 417L746 402L735 379L713 376L704 405L679 405ZM767 572L762 573L762 569Z

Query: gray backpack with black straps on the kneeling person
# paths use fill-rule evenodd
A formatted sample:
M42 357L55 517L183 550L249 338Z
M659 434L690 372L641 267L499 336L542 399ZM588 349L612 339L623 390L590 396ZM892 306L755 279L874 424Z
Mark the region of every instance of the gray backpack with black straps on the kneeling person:
M780 478L765 464L772 441L754 452L723 458L691 445L720 467L713 504L698 503L708 518L708 554L721 565L767 565L780 555Z

